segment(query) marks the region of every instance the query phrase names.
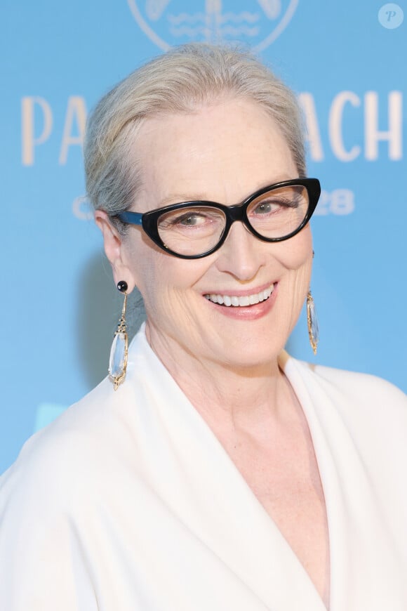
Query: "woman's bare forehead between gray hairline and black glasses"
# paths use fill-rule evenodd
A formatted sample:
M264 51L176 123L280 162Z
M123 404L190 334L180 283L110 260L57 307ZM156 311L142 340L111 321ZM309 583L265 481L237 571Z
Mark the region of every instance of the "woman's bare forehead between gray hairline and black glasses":
M274 121L247 100L147 119L134 153L143 183L137 207L143 211L182 199L233 204L265 185L298 176Z

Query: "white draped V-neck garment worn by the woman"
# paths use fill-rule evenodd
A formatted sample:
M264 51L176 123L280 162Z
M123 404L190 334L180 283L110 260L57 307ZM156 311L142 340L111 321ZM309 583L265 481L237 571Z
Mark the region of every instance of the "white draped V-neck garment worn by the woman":
M281 357L326 498L331 611L407 609L407 398ZM323 611L311 580L139 333L0 479L4 611Z

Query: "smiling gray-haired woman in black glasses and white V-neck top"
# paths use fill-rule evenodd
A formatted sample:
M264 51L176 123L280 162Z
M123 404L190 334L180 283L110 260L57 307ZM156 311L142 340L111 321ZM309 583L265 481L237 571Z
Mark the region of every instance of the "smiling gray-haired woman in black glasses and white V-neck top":
M291 91L183 46L100 101L85 153L147 322L2 478L2 607L405 610L407 399L283 351L319 197Z

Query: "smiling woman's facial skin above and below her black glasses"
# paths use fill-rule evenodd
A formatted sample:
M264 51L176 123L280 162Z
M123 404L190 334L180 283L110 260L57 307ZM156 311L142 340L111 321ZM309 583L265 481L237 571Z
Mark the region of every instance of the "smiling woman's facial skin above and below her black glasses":
M144 182L133 206L139 212L194 199L238 204L255 190L298 177L276 124L246 100L148 119L137 136L137 157ZM140 289L147 337L159 356L183 353L227 367L274 360L309 287L308 226L285 242L267 243L236 222L218 251L194 260L166 254L131 227L120 250L123 277L116 280ZM243 307L208 299L247 303L267 289L268 299Z

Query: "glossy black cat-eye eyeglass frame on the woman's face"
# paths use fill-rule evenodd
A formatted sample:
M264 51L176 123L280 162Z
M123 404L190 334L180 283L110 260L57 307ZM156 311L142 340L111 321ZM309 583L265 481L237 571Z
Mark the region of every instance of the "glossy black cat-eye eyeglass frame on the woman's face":
M300 223L299 227L291 233L288 233L288 235L284 235L282 237L265 237L263 235L260 235L260 233L258 233L253 228L250 221L248 220L248 216L246 213L248 206L250 206L251 202L253 202L257 197L260 197L260 195L283 187L305 187L308 194L307 213L305 214L305 217L303 218L302 223ZM245 225L246 229L248 229L252 235L257 237L258 239L261 239L262 242L283 242L286 239L294 237L303 228L305 228L305 225L307 225L307 223L309 222L309 219L312 217L312 214L316 209L320 195L321 184L319 183L318 178L294 178L293 180L283 180L282 182L274 183L273 185L263 187L262 189L259 189L258 191L252 193L252 195L246 197L246 199L244 199L241 204L234 204L232 206L226 206L225 204L219 204L218 202L209 202L206 200L196 199L191 202L180 202L179 204L171 204L169 206L157 208L149 212L120 212L119 214L112 215L112 218L118 218L119 221L125 223L126 225L141 226L142 229L145 231L146 235L152 240L152 242L154 242L156 246L158 246L159 248L161 248L161 250L168 254L182 259L198 259L209 256L218 249L220 249L220 247L222 247L222 244L225 242L227 236L229 235L229 230L235 221L241 221L241 223ZM215 208L222 211L225 214L225 228L222 232L222 235L220 236L219 242L217 242L217 244L215 244L213 248L209 249L203 254L184 255L171 250L163 242L159 235L158 220L159 217L166 212L171 212L173 210L182 210L185 208L190 208L191 206Z

